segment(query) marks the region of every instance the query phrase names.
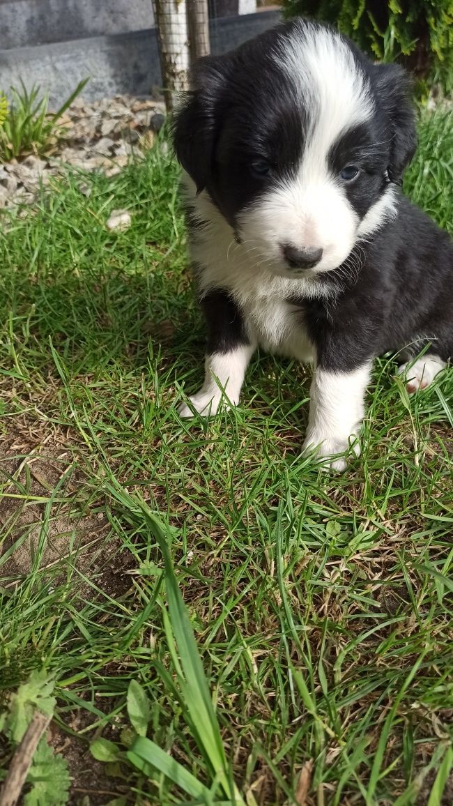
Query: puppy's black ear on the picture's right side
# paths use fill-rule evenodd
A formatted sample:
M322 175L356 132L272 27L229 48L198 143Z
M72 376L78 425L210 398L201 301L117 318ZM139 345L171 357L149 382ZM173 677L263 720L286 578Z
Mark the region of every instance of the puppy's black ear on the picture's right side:
M389 178L401 183L403 171L417 147L412 82L398 64L376 65L377 92L391 133Z

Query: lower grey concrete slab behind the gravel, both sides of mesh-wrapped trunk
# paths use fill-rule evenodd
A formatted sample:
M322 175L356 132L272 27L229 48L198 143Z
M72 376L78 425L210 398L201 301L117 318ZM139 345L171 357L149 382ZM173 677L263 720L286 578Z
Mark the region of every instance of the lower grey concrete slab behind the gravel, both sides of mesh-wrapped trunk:
M213 19L211 50L222 53L235 48L279 19L276 10ZM29 87L36 82L48 90L53 108L87 76L90 81L84 97L89 100L122 93L145 95L159 88L156 29L0 50L0 88L18 85L21 78Z

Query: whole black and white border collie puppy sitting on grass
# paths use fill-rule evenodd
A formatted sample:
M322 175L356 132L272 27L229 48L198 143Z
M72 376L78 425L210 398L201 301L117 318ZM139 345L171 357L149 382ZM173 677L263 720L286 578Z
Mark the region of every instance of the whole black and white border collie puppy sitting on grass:
M409 81L297 19L207 56L174 124L208 340L181 416L239 401L260 345L313 362L303 449L338 458L364 418L373 359L404 349L409 392L453 355L453 244L401 194ZM414 361L425 350L422 358Z

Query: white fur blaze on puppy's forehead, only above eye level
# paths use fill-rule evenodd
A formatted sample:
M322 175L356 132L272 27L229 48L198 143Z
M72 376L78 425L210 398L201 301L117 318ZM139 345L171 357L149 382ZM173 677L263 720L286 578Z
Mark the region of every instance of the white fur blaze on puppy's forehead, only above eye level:
M368 80L341 36L315 23L299 23L273 56L306 112L304 161L325 162L343 132L372 116Z

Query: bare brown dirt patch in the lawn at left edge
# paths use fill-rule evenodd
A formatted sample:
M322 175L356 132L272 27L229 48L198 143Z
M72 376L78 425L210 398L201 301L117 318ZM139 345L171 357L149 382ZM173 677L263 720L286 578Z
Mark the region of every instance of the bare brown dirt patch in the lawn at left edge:
M108 531L102 513L81 515L77 457L64 438L49 437L30 441L19 431L0 443L0 563L6 585L63 559L77 558L83 567L84 547L93 547Z

